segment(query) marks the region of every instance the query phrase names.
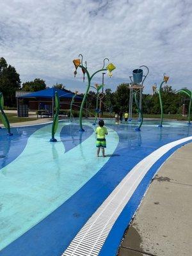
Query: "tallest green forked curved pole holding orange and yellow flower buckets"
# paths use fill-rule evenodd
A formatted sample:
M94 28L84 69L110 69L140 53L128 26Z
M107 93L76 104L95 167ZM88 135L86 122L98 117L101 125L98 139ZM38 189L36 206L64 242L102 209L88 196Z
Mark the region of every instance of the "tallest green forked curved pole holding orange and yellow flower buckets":
M80 108L80 112L79 112L79 125L80 125L79 131L84 132L83 125L82 125L83 106L84 106L84 102L86 100L86 96L87 96L87 94L90 90L92 78L93 78L93 76L95 76L95 74L97 74L99 72L102 72L102 71L106 71L107 68L102 68L100 70L97 70L95 73L92 74L92 76L90 76L87 68L84 67L82 63L81 63L81 65L79 65L79 67L84 69L84 71L86 72L87 79L88 79L88 86L86 88L86 92L84 93L84 97L83 97L83 100L81 102L81 108Z

